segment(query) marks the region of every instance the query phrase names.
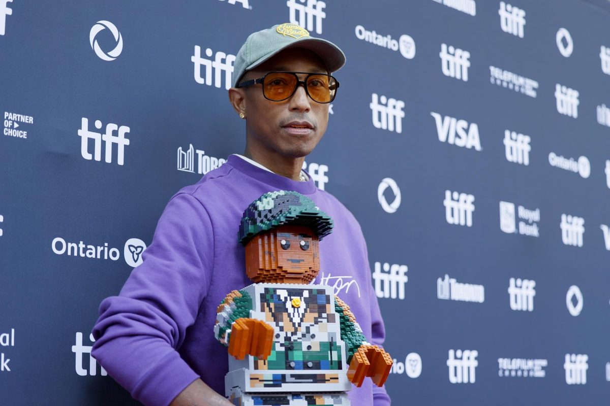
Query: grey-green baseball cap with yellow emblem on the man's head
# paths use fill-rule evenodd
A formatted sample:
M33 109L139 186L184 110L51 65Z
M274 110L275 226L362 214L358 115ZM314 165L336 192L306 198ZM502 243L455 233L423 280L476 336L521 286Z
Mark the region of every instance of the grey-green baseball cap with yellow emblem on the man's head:
M296 24L278 24L249 35L235 57L233 86L237 86L249 69L256 68L286 48L295 47L315 52L324 61L329 72L335 72L345 65L345 54L331 41L310 37L309 31Z

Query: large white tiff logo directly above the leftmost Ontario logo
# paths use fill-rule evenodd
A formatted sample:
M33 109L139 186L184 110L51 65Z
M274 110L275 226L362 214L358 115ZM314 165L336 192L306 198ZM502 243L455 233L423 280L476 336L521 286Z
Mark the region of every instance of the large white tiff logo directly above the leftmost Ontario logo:
M99 120L95 121L95 128L101 130L102 122ZM118 135L112 135L113 131L118 130ZM123 165L124 149L125 145L129 145L129 139L125 138L125 134L129 133L129 127L117 124L109 123L106 125L106 133L101 135L89 131L89 120L85 117L81 119L81 129L78 130L78 135L81 136L81 155L85 159L94 159L101 161L102 156L102 141L106 146L104 158L106 163L112 163L112 144L117 144L117 164ZM89 139L93 139L93 155L89 152Z

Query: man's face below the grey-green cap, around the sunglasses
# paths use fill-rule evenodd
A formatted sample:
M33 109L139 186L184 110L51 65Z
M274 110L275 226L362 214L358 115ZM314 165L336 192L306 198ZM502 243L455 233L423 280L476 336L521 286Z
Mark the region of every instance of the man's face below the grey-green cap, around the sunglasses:
M244 80L258 79L271 71L328 73L314 52L290 48L246 72ZM299 74L304 80L304 74ZM314 102L303 86L287 100L265 99L262 85L243 88L246 139L251 152L274 158L301 158L309 155L326 131L328 103Z

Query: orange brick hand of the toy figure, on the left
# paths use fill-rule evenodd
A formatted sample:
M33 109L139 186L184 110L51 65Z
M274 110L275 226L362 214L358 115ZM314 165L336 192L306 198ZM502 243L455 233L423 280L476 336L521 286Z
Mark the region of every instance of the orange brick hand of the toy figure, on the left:
M273 348L273 327L262 320L238 318L231 324L229 354L243 360L246 354L266 360Z

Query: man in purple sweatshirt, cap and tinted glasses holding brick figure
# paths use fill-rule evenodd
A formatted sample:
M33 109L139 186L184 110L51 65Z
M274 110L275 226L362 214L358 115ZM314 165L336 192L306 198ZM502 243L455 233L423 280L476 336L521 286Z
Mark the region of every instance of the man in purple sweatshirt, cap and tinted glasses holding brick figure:
M93 357L144 404L230 405L218 394L228 357L213 326L224 295L250 284L235 236L244 208L265 192L307 195L334 219L316 283L332 284L331 275L349 280L336 293L371 343L384 340L360 226L301 171L326 131L328 103L339 87L328 74L344 63L337 46L294 24L253 33L237 54L229 99L246 120L245 156L229 156L171 198L143 264L119 296L102 302L93 329ZM370 380L353 388L350 399L353 405L390 404L384 388Z

